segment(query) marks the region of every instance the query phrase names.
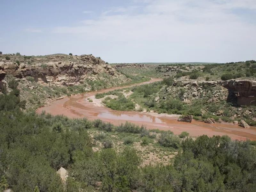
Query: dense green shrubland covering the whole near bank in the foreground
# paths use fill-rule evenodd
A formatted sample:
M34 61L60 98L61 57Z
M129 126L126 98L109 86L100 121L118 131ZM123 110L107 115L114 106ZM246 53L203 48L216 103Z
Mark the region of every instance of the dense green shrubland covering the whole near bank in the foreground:
M24 104L16 88L0 95L0 186L13 192L256 188L256 149L250 140L194 139L186 133L180 139L171 131L130 123L37 115ZM60 167L68 170L65 187L56 174Z

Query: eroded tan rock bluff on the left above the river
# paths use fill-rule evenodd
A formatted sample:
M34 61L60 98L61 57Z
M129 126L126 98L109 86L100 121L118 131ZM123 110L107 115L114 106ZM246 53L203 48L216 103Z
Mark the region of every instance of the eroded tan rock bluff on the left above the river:
M4 55L0 55L0 80L4 79L6 74L10 74L17 78L31 76L42 84L72 86L82 84L90 75L100 73L109 74L121 82L127 80L115 68L92 55L56 55L30 59L10 55L10 58L6 60ZM20 65L16 63L17 60Z

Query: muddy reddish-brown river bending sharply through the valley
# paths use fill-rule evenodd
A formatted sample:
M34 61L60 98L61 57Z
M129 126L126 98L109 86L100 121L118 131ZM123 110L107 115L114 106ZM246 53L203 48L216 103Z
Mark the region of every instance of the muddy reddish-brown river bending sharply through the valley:
M140 83L147 84L161 79L152 78L148 82ZM87 92L79 95L69 96L60 100L55 100L42 108L37 109L38 113L45 111L52 115L65 115L71 118L87 117L90 120L102 119L103 121L111 122L115 125L129 121L134 124L146 125L148 129L171 130L174 134L180 134L183 131L189 132L190 136L199 136L206 134L213 135L228 135L232 139L245 140L249 138L256 140L256 127L242 128L238 125L228 123L206 124L193 120L192 123L178 122L176 115L143 113L137 111L115 111L105 108L99 103L89 102L88 97L94 98L96 93L108 92L115 89L130 87L139 84L133 84L122 87L114 87L105 90Z

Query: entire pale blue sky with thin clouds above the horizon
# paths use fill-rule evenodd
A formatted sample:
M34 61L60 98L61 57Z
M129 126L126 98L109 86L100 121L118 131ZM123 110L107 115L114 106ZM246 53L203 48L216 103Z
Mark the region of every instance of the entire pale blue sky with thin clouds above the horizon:
M109 63L256 60L256 0L0 0L0 51Z

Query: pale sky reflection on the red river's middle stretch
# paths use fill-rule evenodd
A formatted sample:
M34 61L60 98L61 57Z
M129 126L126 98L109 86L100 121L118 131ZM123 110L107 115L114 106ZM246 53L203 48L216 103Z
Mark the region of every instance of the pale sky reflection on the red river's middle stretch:
M96 115L96 114L95 114ZM121 113L97 113L97 116L100 118L116 119L116 120L127 120L127 121L143 121L143 122L152 122L152 123L164 123L161 119L154 116L147 116L143 114L134 114L127 115Z

